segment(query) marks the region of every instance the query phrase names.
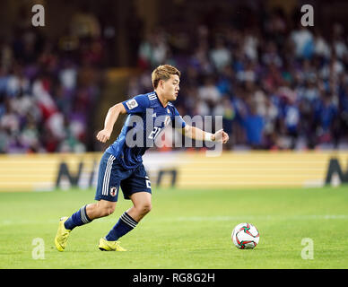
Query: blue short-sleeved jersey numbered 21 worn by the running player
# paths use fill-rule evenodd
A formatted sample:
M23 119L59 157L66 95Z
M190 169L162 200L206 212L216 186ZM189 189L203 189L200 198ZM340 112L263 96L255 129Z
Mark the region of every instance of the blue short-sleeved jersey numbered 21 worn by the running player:
M164 107L155 91L122 104L128 116L117 140L106 152L113 154L125 169L134 169L143 162L144 152L154 146L156 136L170 122L175 127L186 126L178 110L171 103Z

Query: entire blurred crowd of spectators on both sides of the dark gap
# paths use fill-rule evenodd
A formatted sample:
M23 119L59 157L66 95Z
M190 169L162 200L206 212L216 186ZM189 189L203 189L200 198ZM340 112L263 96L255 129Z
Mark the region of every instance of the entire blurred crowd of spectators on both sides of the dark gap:
M228 149L346 147L343 26L330 23L327 35L282 11L258 16L254 25L176 21L137 35L131 50L141 73L127 94L152 91L152 69L175 65L182 73L179 113L222 116ZM0 152L98 149L92 121L108 47L91 14L77 13L71 23L57 41L30 27L0 40Z

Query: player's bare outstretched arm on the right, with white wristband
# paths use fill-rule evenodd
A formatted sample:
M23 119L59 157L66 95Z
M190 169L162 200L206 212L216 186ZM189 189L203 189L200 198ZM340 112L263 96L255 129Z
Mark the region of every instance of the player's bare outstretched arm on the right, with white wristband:
M211 134L204 132L204 130L196 126L188 126L182 128L182 133L194 140L216 142L216 143L227 143L229 141L229 135L223 131L223 129L218 130L216 133Z

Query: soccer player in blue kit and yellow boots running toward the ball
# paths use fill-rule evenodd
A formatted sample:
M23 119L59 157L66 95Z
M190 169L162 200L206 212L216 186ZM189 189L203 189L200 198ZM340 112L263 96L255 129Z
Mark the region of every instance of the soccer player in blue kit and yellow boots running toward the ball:
M222 129L215 134L207 133L195 126L188 126L179 116L178 110L170 103L178 97L179 77L180 72L176 67L160 65L152 72L154 91L135 96L109 109L104 128L97 135L101 143L109 140L120 114L128 114L128 117L117 140L109 146L100 160L95 196L97 202L84 205L69 218L61 218L55 239L59 251L65 249L67 238L75 227L115 211L119 187L124 198L130 199L133 206L100 239L99 248L105 251L126 251L120 247L118 239L133 230L152 209L151 183L144 169L142 156L153 146L156 136L170 121L172 124L176 123L175 126L179 126L178 129L192 139L227 143L229 136ZM143 138L139 135L143 135ZM141 140L133 144L136 136Z

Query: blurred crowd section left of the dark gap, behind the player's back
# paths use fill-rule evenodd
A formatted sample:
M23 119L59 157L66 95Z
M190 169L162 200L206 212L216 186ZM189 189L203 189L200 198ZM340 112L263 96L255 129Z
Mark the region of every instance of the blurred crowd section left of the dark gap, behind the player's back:
M90 150L102 45L81 18L57 42L30 26L0 42L0 152Z

